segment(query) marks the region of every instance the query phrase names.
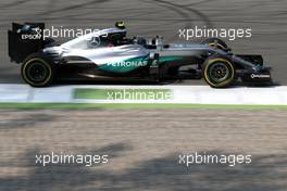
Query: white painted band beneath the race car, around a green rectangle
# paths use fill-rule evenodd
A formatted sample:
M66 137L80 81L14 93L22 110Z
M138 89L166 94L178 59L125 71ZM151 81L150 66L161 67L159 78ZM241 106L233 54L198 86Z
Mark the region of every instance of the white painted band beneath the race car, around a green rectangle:
M171 89L171 100L74 99L75 89ZM32 88L27 85L0 85L1 103L191 103L287 105L287 87L213 89L208 86L59 86Z

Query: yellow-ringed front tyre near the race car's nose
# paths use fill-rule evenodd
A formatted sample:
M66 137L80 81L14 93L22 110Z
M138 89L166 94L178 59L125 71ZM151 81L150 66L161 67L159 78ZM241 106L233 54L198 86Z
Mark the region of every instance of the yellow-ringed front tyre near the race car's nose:
M224 56L212 56L203 64L203 77L212 88L226 88L235 80L235 67Z

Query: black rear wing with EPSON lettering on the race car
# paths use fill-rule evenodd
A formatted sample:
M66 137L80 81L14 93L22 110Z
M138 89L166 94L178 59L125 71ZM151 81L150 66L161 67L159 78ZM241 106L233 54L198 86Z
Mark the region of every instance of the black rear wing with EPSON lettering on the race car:
M8 49L12 62L22 63L27 55L43 48L43 23L12 23L8 30Z

